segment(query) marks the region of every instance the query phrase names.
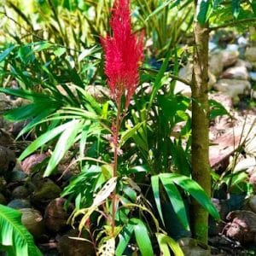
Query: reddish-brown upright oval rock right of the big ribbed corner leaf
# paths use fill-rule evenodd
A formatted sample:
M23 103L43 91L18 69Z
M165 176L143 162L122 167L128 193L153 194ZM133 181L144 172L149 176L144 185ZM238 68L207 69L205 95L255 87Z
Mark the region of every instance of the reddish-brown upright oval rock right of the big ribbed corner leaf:
M64 205L67 202L64 198L56 198L50 201L44 212L45 226L48 230L58 232L67 226L69 213L65 210ZM69 204L69 210L73 207Z

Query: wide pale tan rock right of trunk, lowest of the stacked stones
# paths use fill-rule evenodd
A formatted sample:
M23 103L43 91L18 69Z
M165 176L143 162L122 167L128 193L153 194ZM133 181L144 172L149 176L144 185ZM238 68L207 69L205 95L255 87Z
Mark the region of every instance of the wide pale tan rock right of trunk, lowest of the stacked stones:
M246 80L238 79L219 79L213 88L218 91L223 91L226 95L233 99L238 95L243 95L251 89L251 84Z

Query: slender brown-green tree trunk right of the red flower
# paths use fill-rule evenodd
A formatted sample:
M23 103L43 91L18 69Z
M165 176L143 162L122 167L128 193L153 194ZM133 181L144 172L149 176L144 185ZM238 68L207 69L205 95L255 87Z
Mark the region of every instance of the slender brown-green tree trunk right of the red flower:
M197 1L195 0L195 11ZM194 23L194 72L192 85L192 177L211 193L209 166L209 106L208 106L208 24ZM191 224L193 236L205 243L208 239L208 213L192 202Z

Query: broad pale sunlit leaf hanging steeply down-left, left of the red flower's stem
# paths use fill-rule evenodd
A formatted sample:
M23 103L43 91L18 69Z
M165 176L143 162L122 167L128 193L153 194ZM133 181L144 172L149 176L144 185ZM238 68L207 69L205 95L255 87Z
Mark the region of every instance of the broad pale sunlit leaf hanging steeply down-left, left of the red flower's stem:
M75 138L82 129L82 125L83 122L74 119L70 122L70 126L63 131L55 146L55 150L49 159L49 164L44 172L44 177L49 176L49 174L54 170L55 166L59 164L64 154L67 153L67 150L72 147L75 142Z

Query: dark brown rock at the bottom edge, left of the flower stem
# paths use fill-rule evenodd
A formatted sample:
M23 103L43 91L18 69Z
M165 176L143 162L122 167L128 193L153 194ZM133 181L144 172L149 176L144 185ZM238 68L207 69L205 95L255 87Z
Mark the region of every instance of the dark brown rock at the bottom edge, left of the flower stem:
M85 233L85 232L83 232ZM70 230L66 235L61 236L58 242L58 251L65 256L92 256L96 251L89 241L76 240L79 236L79 230ZM90 240L89 234L82 234L82 238Z

